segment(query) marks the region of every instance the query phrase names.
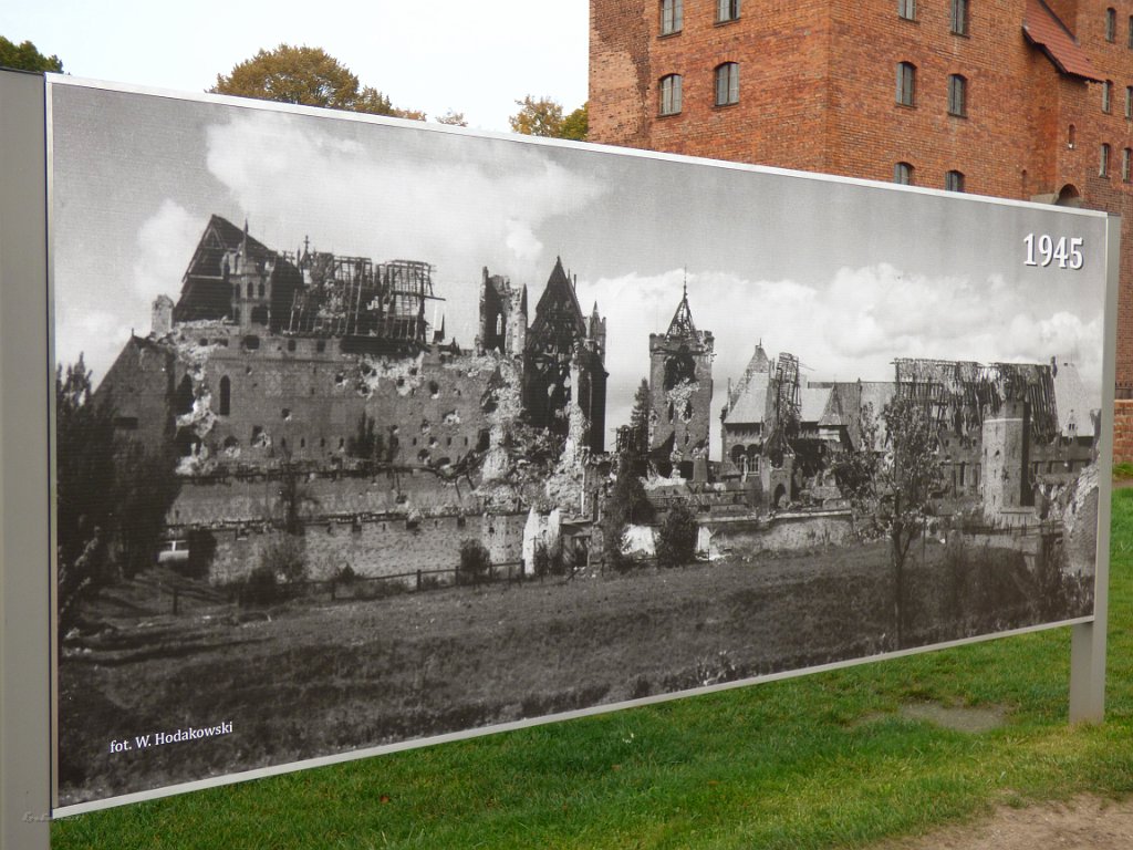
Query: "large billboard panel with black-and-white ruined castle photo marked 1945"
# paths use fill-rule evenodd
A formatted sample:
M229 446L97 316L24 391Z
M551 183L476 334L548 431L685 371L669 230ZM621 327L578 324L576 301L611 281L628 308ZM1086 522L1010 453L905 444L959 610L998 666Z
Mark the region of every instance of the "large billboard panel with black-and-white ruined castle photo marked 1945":
M48 97L58 814L1093 617L1102 214Z

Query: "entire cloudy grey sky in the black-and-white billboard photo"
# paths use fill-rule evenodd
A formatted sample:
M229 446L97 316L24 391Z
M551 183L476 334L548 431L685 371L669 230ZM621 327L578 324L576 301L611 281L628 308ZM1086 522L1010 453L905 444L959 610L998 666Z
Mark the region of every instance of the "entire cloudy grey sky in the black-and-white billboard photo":
M1074 360L1100 403L1105 220L884 185L531 143L380 119L53 88L57 357L100 379L212 213L280 250L424 260L471 346L482 269L543 290L555 257L608 321L607 427L625 422L688 286L716 338L714 408L757 342L810 380L895 357ZM1080 271L1024 237L1084 241ZM1057 264L1055 264L1057 265Z

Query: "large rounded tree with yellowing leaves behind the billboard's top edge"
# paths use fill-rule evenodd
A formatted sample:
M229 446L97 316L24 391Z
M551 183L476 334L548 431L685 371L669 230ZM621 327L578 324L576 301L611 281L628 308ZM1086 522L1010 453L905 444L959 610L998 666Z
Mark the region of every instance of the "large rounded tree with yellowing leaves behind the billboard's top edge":
M376 116L394 116L425 120L425 113L399 109L376 88L363 86L358 77L322 48L280 44L275 50L261 50L218 75L214 94L299 103L307 107L342 109Z

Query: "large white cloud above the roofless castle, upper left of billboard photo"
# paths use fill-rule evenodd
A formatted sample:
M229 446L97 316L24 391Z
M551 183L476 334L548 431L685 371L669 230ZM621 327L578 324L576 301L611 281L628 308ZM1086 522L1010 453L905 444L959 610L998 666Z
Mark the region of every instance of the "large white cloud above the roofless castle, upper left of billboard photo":
M438 295L449 299L448 328L466 343L475 333L480 267L542 286L553 261L540 226L606 192L537 146L499 142L505 161L470 161L470 146L443 134L393 154L385 134L419 130L355 122L331 129L342 137L301 116L240 112L208 128L207 167L267 245L309 236L323 250L434 263Z

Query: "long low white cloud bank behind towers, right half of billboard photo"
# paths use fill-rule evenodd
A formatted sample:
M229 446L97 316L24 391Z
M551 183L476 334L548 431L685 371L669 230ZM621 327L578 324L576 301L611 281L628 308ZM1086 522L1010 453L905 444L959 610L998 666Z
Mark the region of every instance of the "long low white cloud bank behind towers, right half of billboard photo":
M770 357L796 355L810 380L892 380L896 357L1047 363L1058 356L1076 363L1100 401L1100 317L1041 315L1021 287L1000 278L930 279L881 264L842 269L825 286L715 271L687 280L692 318L716 341L714 456L727 381L740 377L757 342ZM607 316L607 430L628 420L633 391L648 376L649 334L668 328L684 281L678 269L579 282L582 304L597 300Z

